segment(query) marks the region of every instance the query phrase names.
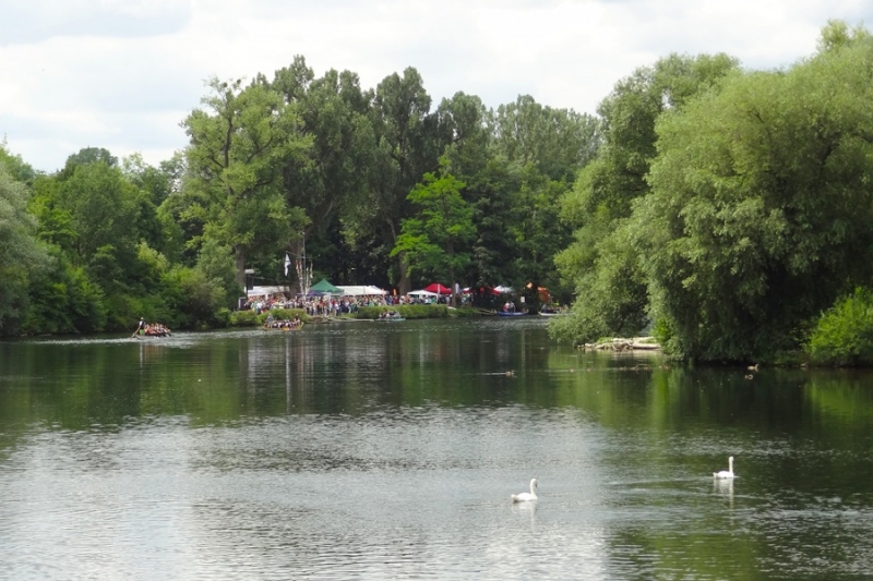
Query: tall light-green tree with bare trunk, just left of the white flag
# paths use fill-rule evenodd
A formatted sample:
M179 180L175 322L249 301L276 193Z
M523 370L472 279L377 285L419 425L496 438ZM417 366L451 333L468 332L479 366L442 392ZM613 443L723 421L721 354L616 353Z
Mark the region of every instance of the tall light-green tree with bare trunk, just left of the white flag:
M263 78L243 88L242 81L208 82L205 109L182 123L191 143L191 175L186 194L196 202L204 235L234 249L237 283L246 282L247 256L279 255L304 226L301 213L288 208L277 187L278 161L306 147L294 128L297 117Z

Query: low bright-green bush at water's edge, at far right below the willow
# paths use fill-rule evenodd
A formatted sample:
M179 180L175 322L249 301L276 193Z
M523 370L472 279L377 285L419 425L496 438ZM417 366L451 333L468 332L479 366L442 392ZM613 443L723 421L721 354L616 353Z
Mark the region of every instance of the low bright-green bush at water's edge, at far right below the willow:
M873 365L873 292L856 289L825 311L805 351L818 365Z

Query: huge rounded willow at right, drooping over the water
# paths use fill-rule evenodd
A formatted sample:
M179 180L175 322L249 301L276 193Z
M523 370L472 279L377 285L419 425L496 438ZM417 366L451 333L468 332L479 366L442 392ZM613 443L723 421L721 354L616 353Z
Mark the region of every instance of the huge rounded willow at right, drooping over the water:
M750 360L873 275L873 43L826 44L785 72L733 75L657 126L635 207L673 353Z

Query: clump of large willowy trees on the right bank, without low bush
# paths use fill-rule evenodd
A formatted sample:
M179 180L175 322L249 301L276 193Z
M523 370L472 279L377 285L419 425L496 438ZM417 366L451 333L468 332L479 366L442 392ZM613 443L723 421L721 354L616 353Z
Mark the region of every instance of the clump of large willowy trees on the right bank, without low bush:
M871 282L871 58L869 34L830 23L785 71L671 57L620 83L606 144L564 198L578 226L558 263L578 300L554 335L650 324L701 361L801 348L822 311ZM622 133L611 119L629 100L646 122Z

